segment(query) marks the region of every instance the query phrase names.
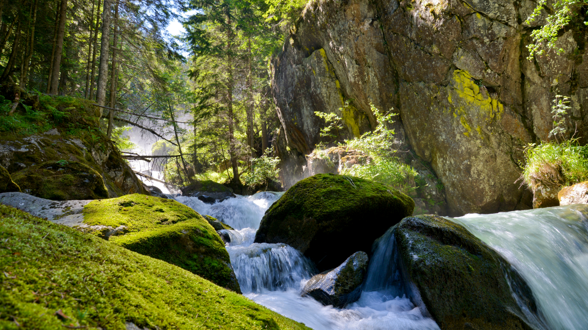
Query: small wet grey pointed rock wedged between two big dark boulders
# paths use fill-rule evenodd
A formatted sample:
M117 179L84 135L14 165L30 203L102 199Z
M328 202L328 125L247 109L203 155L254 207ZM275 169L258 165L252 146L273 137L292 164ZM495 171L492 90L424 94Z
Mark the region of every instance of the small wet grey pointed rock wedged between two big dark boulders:
M334 270L310 278L302 289L302 297L313 297L323 305L344 307L362 294L361 285L367 267L368 254L355 252Z

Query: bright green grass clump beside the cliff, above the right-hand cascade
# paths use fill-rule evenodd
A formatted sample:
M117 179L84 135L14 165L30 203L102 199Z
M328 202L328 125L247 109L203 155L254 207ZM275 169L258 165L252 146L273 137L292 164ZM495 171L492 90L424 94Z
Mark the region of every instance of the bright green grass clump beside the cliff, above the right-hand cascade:
M524 150L524 159L521 179L532 191L588 180L588 146L580 146L577 139L531 143Z

